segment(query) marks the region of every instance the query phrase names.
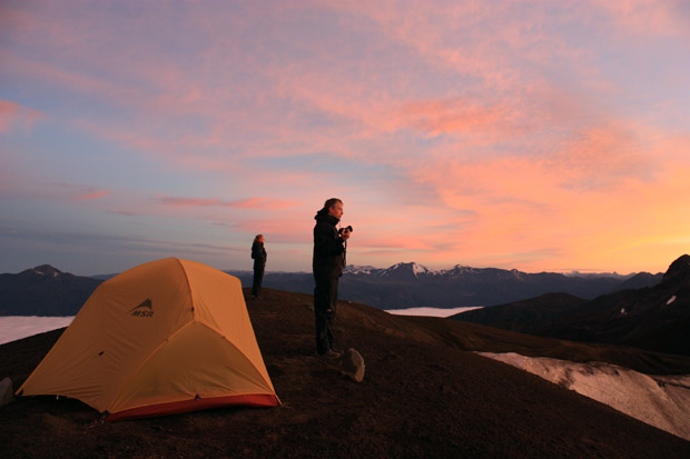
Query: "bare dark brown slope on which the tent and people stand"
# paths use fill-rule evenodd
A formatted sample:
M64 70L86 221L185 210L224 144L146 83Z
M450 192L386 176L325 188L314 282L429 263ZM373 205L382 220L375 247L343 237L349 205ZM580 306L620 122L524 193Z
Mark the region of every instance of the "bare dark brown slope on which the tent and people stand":
M688 441L465 350L555 341L341 302L338 343L366 360L352 382L313 356L310 303L274 290L248 300L282 408L100 425L78 401L20 399L0 410L3 456L690 457ZM0 346L3 373L20 383L58 335Z

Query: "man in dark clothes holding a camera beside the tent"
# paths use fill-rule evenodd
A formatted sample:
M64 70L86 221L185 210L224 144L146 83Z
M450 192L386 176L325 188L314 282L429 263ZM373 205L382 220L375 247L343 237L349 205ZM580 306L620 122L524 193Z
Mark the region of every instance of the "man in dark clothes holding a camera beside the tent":
M338 278L345 266L346 241L352 227L338 232L336 224L343 217L343 201L331 198L316 212L314 227L314 315L316 319L316 352L333 359L341 352L333 348L332 322L335 319L338 297Z

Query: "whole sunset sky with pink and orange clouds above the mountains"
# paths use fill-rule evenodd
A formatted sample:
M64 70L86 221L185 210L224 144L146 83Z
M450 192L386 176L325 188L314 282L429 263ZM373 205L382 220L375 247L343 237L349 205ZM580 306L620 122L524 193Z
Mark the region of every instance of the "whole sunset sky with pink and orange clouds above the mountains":
M0 272L690 250L690 2L0 2Z

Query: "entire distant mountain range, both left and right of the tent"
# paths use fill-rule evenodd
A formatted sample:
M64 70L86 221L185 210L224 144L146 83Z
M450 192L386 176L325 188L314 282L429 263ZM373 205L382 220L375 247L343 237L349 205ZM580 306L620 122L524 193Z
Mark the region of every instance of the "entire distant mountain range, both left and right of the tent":
M252 271L226 271L252 286ZM0 316L73 316L96 287L116 275L80 277L49 265L18 275L0 275ZM650 287L662 275L631 276L528 273L495 268L455 266L430 270L421 265L397 263L390 268L348 266L341 279L338 298L379 309L417 307L455 308L493 306L548 292L565 292L593 299L612 291ZM283 291L313 293L307 272L266 272L264 286Z

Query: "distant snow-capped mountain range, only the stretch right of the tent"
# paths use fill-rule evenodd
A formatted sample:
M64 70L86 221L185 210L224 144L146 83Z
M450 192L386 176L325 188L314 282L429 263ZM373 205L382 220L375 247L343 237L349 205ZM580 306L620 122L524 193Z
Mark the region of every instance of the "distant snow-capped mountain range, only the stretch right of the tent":
M252 272L229 272L239 277L244 286L252 285ZM661 277L661 273L649 272L566 276L463 266L430 270L415 262L397 263L385 269L348 266L341 278L338 298L379 309L493 306L548 292L593 299L621 289L650 287L658 283ZM267 272L264 285L278 290L314 292L312 273L305 272Z

